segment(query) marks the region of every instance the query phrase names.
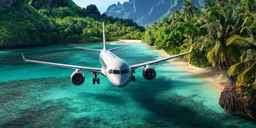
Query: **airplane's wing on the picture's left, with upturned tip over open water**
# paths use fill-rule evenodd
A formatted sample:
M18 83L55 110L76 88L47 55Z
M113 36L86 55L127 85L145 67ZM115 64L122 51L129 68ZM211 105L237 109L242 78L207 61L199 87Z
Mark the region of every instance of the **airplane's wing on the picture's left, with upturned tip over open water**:
M25 59L23 53L21 53L21 54L22 54L22 59L27 61L27 62L40 63L40 64L43 64L43 65L50 65L50 66L63 67L63 68L81 69L81 70L92 71L94 73L101 74L101 68L91 68L91 67L83 67L83 66L65 65L65 64L61 64L61 63L51 63L51 62L27 60L27 59Z

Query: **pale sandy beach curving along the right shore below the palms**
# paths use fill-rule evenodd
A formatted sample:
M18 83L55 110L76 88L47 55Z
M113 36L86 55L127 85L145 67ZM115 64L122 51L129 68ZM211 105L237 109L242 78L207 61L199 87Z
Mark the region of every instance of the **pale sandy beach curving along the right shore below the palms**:
M107 44L144 44L140 40L129 40L129 39L119 39L119 41L108 42ZM159 53L162 57L168 57L169 55L164 52L164 50L156 50L155 46L147 46L145 48L151 49ZM180 58L175 58L169 60L170 63L178 66L182 70L187 71L199 78L205 79L205 81L210 82L215 89L222 91L225 85L230 84L231 81L224 71L213 69L211 67L202 69L197 68L189 64L188 61Z

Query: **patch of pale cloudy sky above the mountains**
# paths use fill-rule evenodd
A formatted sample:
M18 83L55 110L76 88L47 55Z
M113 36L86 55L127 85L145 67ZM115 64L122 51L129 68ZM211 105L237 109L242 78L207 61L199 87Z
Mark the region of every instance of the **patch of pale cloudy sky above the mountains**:
M103 12L106 12L108 6L112 5L112 4L117 4L118 2L120 2L121 4L123 4L124 2L128 2L129 0L73 0L78 6L80 7L84 7L86 9L87 5L90 4L95 4L98 8L98 10L100 11L100 13L102 14Z

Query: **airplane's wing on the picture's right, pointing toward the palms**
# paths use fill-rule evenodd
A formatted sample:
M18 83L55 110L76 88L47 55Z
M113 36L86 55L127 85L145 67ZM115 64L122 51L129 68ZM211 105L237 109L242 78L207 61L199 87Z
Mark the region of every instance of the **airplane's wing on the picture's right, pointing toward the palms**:
M172 55L170 57L166 57L166 58L162 58L162 59L158 59L158 60L153 60L153 61L149 61L149 62L145 62L145 63L140 63L138 65L133 65L133 66L130 66L130 67L131 67L132 70L135 70L135 69L138 69L138 68L141 68L141 67L145 67L146 65L152 65L154 63L158 63L158 62L162 62L162 61L166 61L166 60L170 60L170 59L173 59L173 58L180 57L182 55L190 53L191 51L192 51L192 48L190 49L190 51L185 52L185 53Z

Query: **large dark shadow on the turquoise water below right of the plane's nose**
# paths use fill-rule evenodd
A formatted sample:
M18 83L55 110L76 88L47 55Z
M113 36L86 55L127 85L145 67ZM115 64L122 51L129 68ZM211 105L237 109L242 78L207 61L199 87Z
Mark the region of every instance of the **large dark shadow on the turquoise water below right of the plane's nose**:
M172 89L173 83L169 79L167 81L167 79L162 78L161 82L150 81L142 83L142 81L137 81L136 84L139 86L134 86L127 91L129 91L129 94L135 101L154 114L145 118L152 126L162 124L159 127L169 127L170 125L182 127L223 127L219 120L211 117L214 114L213 111L205 110L202 103L195 102L191 98L182 97L178 94L171 94L167 99L157 98L159 94ZM196 83L181 82L180 84L189 85ZM190 102L193 106L182 105L184 102ZM194 109L193 107L196 108Z

